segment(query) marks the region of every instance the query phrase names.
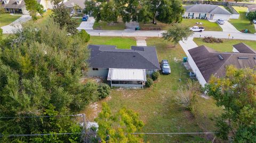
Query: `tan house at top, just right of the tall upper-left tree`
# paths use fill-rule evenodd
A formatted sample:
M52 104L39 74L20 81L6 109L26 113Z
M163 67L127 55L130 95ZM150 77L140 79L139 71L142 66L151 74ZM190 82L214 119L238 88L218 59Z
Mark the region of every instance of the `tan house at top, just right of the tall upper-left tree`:
M70 9L71 14L77 14L83 12L83 9L85 8L84 2L85 0L69 0L64 4L68 7L68 9ZM76 5L79 7L77 10L75 7Z

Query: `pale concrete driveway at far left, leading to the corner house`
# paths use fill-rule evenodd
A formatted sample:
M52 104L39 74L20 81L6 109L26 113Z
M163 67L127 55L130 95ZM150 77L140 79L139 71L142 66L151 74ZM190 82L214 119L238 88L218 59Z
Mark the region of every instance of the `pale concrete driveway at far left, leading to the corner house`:
M30 15L22 15L19 19L13 21L11 24L1 27L3 29L3 33L14 33L15 30L21 28L21 23L27 22L30 19Z

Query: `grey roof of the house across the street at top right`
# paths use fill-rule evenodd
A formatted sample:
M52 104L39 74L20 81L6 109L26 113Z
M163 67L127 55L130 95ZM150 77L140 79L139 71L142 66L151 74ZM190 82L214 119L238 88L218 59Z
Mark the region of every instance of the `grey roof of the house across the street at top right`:
M186 12L199 12L199 13L210 13L210 14L226 14L231 15L225 9L222 9L218 5L212 4L194 4L183 6L186 9Z

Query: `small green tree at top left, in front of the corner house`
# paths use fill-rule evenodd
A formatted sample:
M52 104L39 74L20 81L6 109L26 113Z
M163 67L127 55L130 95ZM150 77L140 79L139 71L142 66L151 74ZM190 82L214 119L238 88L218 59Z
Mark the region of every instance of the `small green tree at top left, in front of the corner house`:
M43 17L44 7L42 4L37 3L36 0L25 0L25 5L33 20L37 20L37 13Z

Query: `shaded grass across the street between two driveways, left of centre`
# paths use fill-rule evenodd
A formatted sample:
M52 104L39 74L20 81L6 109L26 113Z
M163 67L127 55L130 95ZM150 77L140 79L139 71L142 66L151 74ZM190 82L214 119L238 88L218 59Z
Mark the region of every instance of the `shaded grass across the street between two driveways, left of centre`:
M124 30L125 29L125 23L118 19L117 23L109 24L104 21L95 22L93 24L93 29L97 30Z

